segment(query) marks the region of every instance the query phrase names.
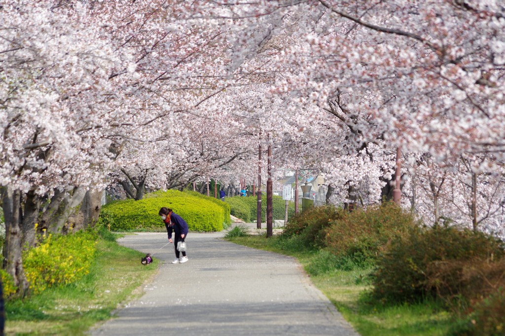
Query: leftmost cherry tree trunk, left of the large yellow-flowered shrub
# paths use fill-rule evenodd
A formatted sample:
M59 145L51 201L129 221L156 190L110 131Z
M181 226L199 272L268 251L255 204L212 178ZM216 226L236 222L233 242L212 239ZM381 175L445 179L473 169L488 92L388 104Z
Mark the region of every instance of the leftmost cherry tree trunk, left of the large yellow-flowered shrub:
M12 275L18 293L24 296L28 290L23 269L21 222L21 191L10 187L2 188L2 208L5 219L4 269Z

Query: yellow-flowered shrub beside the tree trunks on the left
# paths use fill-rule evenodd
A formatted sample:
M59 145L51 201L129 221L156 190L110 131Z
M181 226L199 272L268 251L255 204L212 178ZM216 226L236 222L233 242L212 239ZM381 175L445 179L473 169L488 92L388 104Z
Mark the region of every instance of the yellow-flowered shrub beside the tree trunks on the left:
M95 252L95 236L89 232L48 235L39 246L23 251L30 289L40 293L48 287L80 279L89 273Z

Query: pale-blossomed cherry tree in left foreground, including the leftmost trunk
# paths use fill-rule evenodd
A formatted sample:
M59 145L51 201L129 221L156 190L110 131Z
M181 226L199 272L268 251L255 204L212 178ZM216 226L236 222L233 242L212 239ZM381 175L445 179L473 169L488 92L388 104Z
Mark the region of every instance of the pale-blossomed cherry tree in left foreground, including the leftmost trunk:
M82 200L89 185L99 185L99 172L111 163L111 141L96 131L103 126L97 107L115 90L109 73L128 58L102 41L85 13L3 2L0 16L4 254L24 291L22 244L33 244L44 214L54 216L62 202Z

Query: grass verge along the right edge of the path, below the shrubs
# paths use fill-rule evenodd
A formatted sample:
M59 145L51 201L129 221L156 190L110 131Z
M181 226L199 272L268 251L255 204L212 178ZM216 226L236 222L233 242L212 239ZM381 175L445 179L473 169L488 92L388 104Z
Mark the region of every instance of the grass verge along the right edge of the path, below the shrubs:
M317 264L320 258L319 251L300 250L299 245L281 242L278 236L268 239L263 235L234 236L227 240L293 256L306 270ZM362 336L442 336L456 323L437 302L401 306L370 303L367 293L371 288L368 279L371 271L371 268L349 271L332 269L311 276L311 279Z

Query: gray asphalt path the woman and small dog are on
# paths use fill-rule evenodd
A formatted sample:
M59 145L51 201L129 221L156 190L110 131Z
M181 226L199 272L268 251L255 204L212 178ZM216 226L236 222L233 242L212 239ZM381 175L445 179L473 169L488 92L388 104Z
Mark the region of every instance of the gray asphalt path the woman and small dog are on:
M220 237L190 232L189 261L175 265L172 244L156 252L168 242L166 233L119 239L129 248L156 252L162 264L140 299L91 334L358 336L295 259Z

